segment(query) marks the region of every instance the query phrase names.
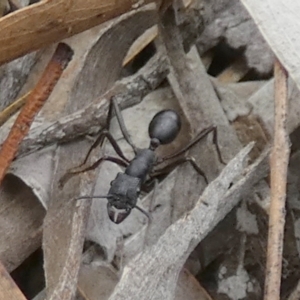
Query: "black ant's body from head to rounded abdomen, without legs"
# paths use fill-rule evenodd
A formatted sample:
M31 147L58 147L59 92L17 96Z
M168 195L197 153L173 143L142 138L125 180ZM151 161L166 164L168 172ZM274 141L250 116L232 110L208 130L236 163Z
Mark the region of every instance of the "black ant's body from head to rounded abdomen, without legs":
M135 157L129 162L124 173L118 173L111 182L106 196L109 218L116 224L128 217L133 208L149 215L140 207L137 200L142 185L157 162L155 150L159 145L171 143L181 128L180 117L174 110L163 110L157 113L149 124L149 148L136 149Z

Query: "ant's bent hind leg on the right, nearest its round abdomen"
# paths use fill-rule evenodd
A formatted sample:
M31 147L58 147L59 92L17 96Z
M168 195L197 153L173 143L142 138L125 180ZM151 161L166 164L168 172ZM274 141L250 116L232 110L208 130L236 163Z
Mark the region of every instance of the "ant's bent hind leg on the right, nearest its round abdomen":
M174 154L165 156L163 158L158 159L156 164L160 164L164 161L167 161L169 159L175 158L177 156L182 155L186 151L188 151L190 148L192 148L196 143L198 143L201 139L203 139L205 136L207 136L210 132L213 132L213 143L216 145L217 148L217 154L220 162L225 165L223 158L221 156L221 151L218 145L218 140L217 140L217 127L216 126L209 126L208 128L202 130L195 138L193 138L192 141L190 141L185 147L180 149L179 151L175 152Z

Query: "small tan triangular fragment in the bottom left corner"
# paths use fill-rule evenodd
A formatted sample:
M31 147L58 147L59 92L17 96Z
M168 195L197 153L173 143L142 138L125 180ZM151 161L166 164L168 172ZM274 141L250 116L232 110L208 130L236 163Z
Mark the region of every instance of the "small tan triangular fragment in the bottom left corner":
M0 299L26 300L0 261Z

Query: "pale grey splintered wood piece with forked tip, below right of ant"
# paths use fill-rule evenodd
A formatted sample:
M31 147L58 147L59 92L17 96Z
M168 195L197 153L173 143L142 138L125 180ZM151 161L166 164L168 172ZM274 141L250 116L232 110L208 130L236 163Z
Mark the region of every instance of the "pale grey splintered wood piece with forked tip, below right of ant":
M171 225L155 245L129 262L110 300L173 299L177 275L192 249L251 191L253 184L266 176L269 152L246 170L243 167L252 146L242 149L227 164L194 209ZM237 177L241 179L229 188Z

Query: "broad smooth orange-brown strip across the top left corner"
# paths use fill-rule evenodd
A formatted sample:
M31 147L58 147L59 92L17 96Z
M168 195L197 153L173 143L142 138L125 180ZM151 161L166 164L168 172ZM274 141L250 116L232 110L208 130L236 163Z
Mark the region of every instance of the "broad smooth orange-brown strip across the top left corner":
M0 19L0 65L153 0L44 0Z

